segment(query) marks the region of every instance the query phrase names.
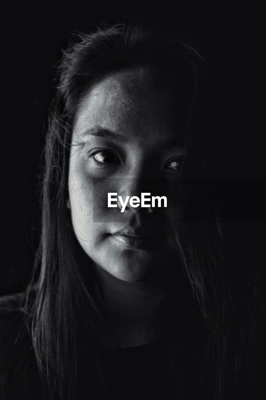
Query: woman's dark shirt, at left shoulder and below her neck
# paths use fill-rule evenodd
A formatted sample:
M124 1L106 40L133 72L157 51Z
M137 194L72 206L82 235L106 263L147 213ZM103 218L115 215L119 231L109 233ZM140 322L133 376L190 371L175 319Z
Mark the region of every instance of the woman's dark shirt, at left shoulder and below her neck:
M50 399L38 374L25 324L23 293L1 298L2 399ZM75 399L169 399L173 396L169 348L165 336L133 347L107 347L96 341L103 378L91 377L89 349L79 357ZM91 379L96 379L91 382Z

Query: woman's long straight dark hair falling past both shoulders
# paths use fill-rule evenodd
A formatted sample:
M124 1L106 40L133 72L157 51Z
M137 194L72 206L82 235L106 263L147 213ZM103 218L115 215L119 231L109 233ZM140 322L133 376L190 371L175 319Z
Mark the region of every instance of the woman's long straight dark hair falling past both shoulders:
M79 101L93 82L108 72L138 65L151 65L173 76L182 73L184 86L190 87L186 110L189 151L176 187L184 218L183 222L179 215L174 218L176 248L195 305L191 330L201 321L197 327L202 332L198 338L202 364L196 371L195 394L202 399L207 393L211 398L222 399L232 382L237 393L237 385L245 381L242 379L245 376L245 388L256 398L249 366L252 348L260 340L254 329L259 295L250 281L246 294L250 302L246 313L240 316L224 266L218 206L213 191L206 190L204 180L211 143L210 125L214 122L206 113L210 97L206 89L208 68L185 36L135 22L73 34L58 67L45 147L42 237L26 304L40 376L52 397L73 397L83 340L80 332L86 332L84 336L91 348L89 362L97 368L97 354L93 350L95 319L101 320L101 316L83 276L80 248L66 208L72 121ZM194 340L195 332L186 334L184 349L186 340ZM190 367L180 365L182 351L174 337L172 350L171 369L177 396L185 399L189 396L186 374L191 376ZM197 356L192 355L195 359ZM195 360L190 361L192 365Z

